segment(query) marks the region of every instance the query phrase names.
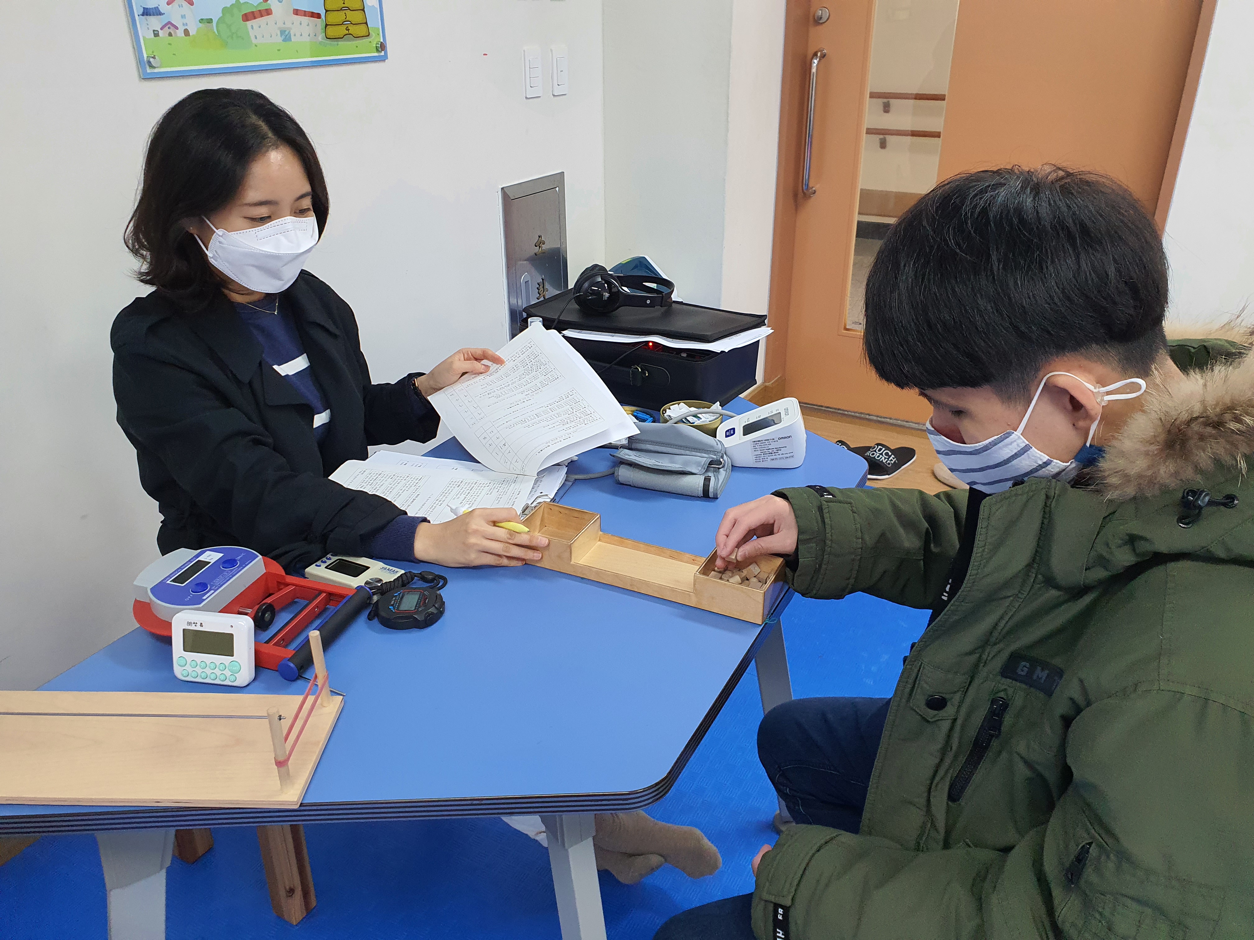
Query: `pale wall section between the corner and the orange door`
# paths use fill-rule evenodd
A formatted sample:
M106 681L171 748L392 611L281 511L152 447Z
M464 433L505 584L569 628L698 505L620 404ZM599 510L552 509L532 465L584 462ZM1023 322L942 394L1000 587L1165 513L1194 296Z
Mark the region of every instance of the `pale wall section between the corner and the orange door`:
M607 264L766 312L782 49L784 0L604 0Z

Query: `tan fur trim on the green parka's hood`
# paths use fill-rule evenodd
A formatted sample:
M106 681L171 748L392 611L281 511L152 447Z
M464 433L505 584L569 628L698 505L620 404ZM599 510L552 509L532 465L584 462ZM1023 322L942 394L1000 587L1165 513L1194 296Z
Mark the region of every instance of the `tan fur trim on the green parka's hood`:
M1249 333L1241 340L1248 343ZM1151 384L1144 407L1106 446L1099 489L1125 500L1196 484L1221 466L1244 476L1249 455L1254 455L1254 353Z

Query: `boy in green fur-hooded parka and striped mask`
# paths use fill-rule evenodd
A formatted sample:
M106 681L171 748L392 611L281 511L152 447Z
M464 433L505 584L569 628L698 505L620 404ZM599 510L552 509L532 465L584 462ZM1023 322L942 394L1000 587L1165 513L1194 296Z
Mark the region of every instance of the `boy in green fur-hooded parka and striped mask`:
M764 718L796 825L658 940L1254 936L1254 358L1169 342L1166 301L1100 175L972 173L892 227L867 356L971 489L781 490L716 545L932 619L892 699Z

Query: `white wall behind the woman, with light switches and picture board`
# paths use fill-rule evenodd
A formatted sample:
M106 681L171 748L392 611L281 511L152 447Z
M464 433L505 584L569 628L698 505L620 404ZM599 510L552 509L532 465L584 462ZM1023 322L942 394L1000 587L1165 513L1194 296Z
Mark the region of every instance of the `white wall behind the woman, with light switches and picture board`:
M376 381L505 340L498 188L566 170L571 267L606 257L601 5L389 3L382 64L142 81L122 4L0 60L0 688L31 688L134 627L157 511L114 421L109 325L147 288L122 247L144 138L198 88L257 88L319 147L331 219L310 269L356 310ZM571 93L548 94L564 43ZM524 100L522 46L545 49Z

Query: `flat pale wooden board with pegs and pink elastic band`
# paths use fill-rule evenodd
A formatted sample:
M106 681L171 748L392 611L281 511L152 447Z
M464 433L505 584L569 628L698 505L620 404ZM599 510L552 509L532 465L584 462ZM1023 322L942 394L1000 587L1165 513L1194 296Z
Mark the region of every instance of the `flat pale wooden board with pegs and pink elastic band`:
M285 787L266 709L286 727L298 696L0 692L0 803L296 807L344 706L326 698Z

